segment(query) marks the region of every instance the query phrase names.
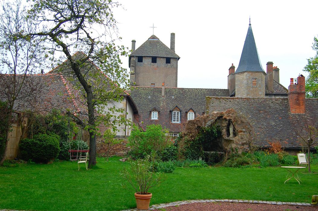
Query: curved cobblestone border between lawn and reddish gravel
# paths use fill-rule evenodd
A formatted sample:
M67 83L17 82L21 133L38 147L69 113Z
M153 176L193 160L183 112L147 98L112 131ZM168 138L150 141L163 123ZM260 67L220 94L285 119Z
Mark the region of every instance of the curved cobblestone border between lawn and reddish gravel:
M237 200L237 199L204 199L204 200L186 200L186 201L176 201L176 202L170 202L165 204L154 204L149 207L148 210L153 209L160 209L160 208L166 208L170 206L176 206L176 205L182 205L182 204L190 204L190 203L197 203L197 202L243 202L243 203L259 203L259 204L277 204L277 205L302 205L302 206L313 206L310 203L299 203L299 202L281 202L281 201L258 201L258 200ZM121 211L138 211L139 209L125 209Z

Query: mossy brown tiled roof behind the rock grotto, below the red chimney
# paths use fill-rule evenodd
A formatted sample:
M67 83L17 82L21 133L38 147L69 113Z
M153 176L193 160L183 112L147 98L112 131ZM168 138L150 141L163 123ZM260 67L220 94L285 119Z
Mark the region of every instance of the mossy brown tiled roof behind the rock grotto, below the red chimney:
M292 122L297 115L290 113L288 98L207 97L207 113L227 109L234 109L251 120L257 146L269 147L268 141L280 141L284 148L300 148ZM306 114L318 116L318 99L306 99Z

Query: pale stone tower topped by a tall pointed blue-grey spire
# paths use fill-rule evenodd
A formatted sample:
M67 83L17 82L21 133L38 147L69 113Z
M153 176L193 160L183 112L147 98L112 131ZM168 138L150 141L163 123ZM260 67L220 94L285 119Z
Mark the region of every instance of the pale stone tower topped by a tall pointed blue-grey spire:
M271 63L271 65L273 67L273 63ZM231 73L229 75L231 75ZM235 96L265 97L265 78L266 73L259 60L250 23L239 66L235 71Z

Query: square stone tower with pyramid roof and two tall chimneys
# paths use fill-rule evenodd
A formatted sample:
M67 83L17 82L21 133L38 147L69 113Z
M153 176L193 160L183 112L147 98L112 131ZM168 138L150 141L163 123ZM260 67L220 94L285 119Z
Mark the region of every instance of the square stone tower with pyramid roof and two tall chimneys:
M175 33L171 33L170 48L158 37L152 35L139 48L135 49L132 40L132 53L129 56L131 86L177 87L178 60L175 53Z

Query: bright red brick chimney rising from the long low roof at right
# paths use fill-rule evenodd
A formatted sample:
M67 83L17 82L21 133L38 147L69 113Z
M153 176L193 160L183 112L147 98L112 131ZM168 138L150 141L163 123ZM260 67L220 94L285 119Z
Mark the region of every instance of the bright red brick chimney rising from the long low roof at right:
M288 102L290 113L305 114L305 77L300 75L297 77L297 83L294 84L294 78L290 79L288 86Z

